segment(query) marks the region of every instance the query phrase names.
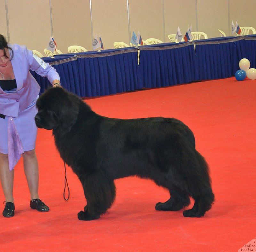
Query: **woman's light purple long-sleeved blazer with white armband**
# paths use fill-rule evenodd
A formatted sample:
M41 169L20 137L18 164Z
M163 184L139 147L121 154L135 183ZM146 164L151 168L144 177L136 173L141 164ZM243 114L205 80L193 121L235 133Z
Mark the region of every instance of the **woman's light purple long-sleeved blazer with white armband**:
M0 114L18 117L18 113L25 110L39 94L40 86L29 72L33 70L52 84L53 80L60 80L56 69L37 57L25 46L9 45L13 50L11 60L13 72L17 82L17 90L5 92L0 87ZM12 54L9 50L10 55Z

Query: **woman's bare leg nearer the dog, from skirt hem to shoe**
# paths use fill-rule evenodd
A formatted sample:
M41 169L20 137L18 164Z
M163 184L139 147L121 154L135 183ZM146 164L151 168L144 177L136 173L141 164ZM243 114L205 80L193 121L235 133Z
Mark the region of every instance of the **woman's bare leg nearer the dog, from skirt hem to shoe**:
M38 172L38 161L36 157L35 149L25 151L23 153L23 165L26 179L28 182L28 188L30 191L31 200L39 199L38 195L38 183L39 183L39 172Z

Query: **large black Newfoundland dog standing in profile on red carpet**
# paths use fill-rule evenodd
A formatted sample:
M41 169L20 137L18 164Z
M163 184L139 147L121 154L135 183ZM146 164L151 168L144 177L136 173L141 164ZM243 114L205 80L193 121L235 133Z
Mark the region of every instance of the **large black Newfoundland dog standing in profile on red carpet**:
M38 99L38 128L53 130L61 158L80 179L87 205L80 220L98 219L115 200L114 180L137 175L167 188L160 211L201 217L213 202L208 166L192 131L174 118L114 119L96 114L77 95L49 88Z

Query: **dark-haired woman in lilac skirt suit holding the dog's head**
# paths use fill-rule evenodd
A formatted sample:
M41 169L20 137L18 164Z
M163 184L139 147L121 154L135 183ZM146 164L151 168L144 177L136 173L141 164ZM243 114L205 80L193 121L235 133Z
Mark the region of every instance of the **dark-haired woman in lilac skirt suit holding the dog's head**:
M60 86L60 76L52 66L25 46L9 45L0 34L0 180L5 196L4 217L14 215L13 168L21 156L30 191L30 207L49 211L38 195L34 117L40 86L29 70L46 76L53 86Z

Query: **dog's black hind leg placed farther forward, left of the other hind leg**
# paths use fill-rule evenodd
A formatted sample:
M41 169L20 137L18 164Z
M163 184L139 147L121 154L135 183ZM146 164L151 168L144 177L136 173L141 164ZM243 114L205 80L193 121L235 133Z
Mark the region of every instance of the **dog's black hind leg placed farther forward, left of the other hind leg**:
M179 211L190 204L188 193L179 189L171 189L171 198L164 203L157 203L155 209L158 211Z

